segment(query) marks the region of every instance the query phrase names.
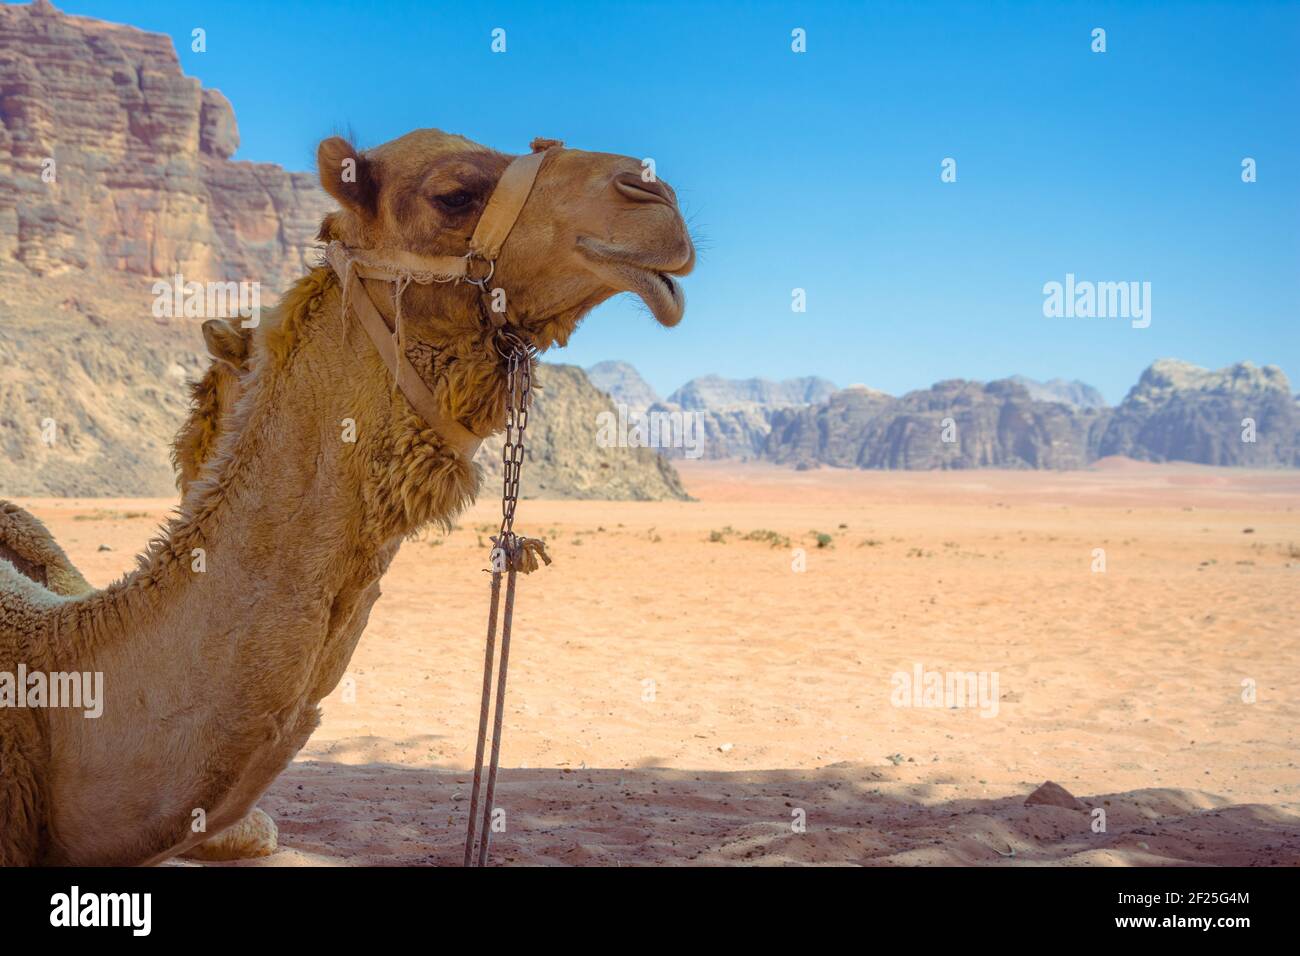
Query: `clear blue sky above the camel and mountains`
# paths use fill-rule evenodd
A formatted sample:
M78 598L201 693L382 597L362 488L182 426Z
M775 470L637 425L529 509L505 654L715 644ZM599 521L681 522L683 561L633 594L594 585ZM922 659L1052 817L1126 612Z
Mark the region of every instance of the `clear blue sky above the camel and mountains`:
M627 359L662 393L710 372L892 393L1019 372L1114 402L1160 356L1273 363L1300 389L1296 4L60 7L170 34L234 103L237 159L309 169L337 130L417 126L653 156L699 238L686 319L664 330L619 297L551 360ZM1067 272L1149 281L1150 326L1044 317Z

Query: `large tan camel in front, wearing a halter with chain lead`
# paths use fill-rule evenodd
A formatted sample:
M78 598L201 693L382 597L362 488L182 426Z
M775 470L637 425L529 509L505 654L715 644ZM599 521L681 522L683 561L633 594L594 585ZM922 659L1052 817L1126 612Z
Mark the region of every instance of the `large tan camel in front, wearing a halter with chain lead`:
M541 172L490 273L515 334L563 346L624 291L676 325L694 246L672 190L632 157L534 150ZM322 238L400 260L463 255L511 157L417 130L365 152L326 139L317 164L339 203ZM354 282L400 329L391 286ZM500 338L471 284L411 285L400 346L447 419L477 437L503 427ZM107 698L98 719L0 708L0 864L155 864L205 839L200 814L213 832L240 821L316 727L402 540L477 493L465 449L394 388L334 271L309 271L264 316L247 364L135 571L60 596L0 562L0 674L101 674Z

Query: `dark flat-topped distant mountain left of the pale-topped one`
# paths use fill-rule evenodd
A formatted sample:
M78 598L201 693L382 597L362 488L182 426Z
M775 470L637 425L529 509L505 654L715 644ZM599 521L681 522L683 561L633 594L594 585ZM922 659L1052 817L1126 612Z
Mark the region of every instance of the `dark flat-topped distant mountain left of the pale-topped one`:
M1037 402L1019 382L954 378L901 398L845 389L777 412L764 455L854 468L1082 468L1104 412Z

